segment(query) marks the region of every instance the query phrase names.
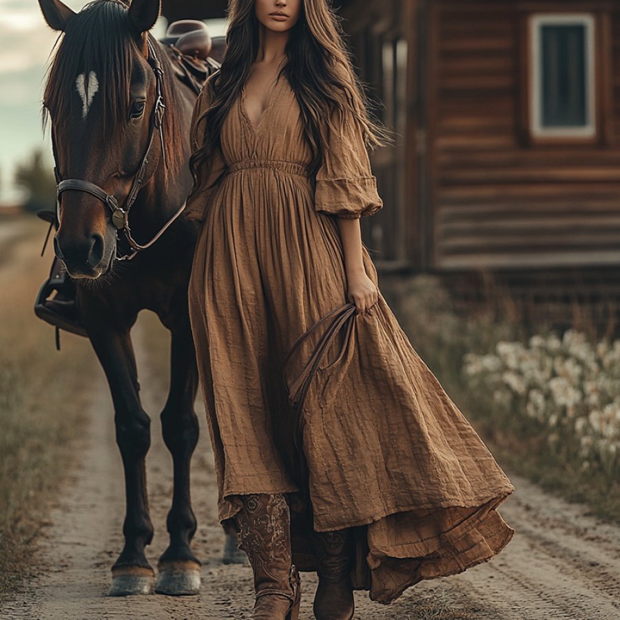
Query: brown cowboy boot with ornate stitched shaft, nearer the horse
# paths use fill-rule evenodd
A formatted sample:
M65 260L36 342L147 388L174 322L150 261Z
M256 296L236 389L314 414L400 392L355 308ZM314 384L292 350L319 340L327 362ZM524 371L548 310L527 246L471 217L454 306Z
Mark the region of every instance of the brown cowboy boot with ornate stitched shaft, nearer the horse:
M297 620L300 578L291 553L291 519L282 494L242 495L236 515L240 548L254 572L254 612L249 620Z

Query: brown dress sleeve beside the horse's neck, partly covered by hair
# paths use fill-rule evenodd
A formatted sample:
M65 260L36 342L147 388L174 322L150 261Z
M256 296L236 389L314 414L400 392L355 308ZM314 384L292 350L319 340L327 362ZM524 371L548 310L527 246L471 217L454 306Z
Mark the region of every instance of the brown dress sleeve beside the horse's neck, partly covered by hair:
M203 138L205 135L205 118L200 121L198 119L211 105L211 90L210 82L214 74L209 76L209 79L205 82L203 90L200 91L196 103L194 104L194 111L192 112L192 122L190 125L189 139L192 145L192 153L196 152L203 146ZM203 165L206 165L203 163ZM198 187L190 192L187 196L185 203L185 219L202 222L205 219L207 206L209 199L214 193L219 181L224 176L227 170L227 164L224 160L224 156L221 148L218 146L211 154L209 161L209 170L206 174L206 178L203 183L200 183Z

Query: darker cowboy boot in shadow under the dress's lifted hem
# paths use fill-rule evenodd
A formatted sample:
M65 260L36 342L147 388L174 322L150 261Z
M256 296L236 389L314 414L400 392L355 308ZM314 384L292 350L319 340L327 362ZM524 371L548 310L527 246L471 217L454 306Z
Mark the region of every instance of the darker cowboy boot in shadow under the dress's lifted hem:
M316 620L351 620L355 613L351 569L353 536L351 529L313 532L317 560L318 588L314 597Z

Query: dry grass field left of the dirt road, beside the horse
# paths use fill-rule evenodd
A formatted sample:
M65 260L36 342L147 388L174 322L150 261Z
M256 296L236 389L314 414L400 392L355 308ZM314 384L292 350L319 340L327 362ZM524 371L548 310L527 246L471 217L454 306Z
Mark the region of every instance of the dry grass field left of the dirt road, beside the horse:
M41 258L45 224L32 216L9 225L0 251L0 599L19 588L36 561L37 537L73 460L85 421L87 386L98 371L85 338L61 335L32 309L48 276ZM14 234L13 234L14 233Z

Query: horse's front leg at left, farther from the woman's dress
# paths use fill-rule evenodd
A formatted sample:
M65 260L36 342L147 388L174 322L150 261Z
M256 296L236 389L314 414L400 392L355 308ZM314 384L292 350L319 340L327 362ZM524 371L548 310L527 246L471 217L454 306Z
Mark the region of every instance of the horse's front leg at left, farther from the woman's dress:
M150 419L138 391L136 358L129 331L97 325L89 337L112 392L116 443L125 470L125 546L112 566L110 596L149 594L155 574L144 548L153 538L146 490L145 457L150 446Z

